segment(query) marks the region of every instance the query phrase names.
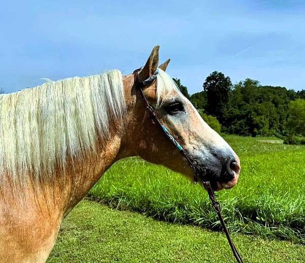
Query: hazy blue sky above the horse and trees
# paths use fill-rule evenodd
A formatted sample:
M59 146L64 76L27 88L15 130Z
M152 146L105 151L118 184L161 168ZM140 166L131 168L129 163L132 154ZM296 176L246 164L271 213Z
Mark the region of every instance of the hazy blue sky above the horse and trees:
M215 70L304 89L304 11L302 1L2 1L0 88L129 74L159 44L190 93Z

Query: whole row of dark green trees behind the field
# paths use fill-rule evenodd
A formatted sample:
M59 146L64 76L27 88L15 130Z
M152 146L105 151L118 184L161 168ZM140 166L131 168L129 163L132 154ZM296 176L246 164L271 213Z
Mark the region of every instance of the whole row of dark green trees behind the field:
M252 79L232 84L217 71L205 79L202 91L192 95L179 79L174 81L199 112L217 118L224 133L305 136L305 90L262 86Z

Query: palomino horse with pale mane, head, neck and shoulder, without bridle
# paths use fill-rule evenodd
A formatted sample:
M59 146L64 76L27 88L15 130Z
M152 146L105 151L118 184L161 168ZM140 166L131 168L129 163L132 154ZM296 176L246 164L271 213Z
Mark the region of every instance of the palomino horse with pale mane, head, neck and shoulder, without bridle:
M158 65L159 46L139 72ZM239 159L159 66L143 91L182 147L212 175L237 182ZM133 75L117 70L0 96L0 261L44 262L60 222L118 159L139 155L192 179L175 146L147 118Z

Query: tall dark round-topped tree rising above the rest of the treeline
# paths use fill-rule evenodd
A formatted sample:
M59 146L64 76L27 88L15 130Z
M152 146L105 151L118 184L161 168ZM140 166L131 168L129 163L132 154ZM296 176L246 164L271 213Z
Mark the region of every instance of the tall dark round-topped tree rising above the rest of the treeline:
M225 77L221 72L212 72L203 83L206 91L205 112L215 116L221 123L224 122L224 112L229 100L229 92L232 87L230 77Z

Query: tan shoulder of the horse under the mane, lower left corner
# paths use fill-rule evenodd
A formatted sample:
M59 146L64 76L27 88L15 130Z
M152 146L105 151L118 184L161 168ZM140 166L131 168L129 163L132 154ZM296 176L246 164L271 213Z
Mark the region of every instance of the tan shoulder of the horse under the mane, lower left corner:
M62 214L33 192L15 195L3 188L0 198L0 261L45 262L57 237Z

